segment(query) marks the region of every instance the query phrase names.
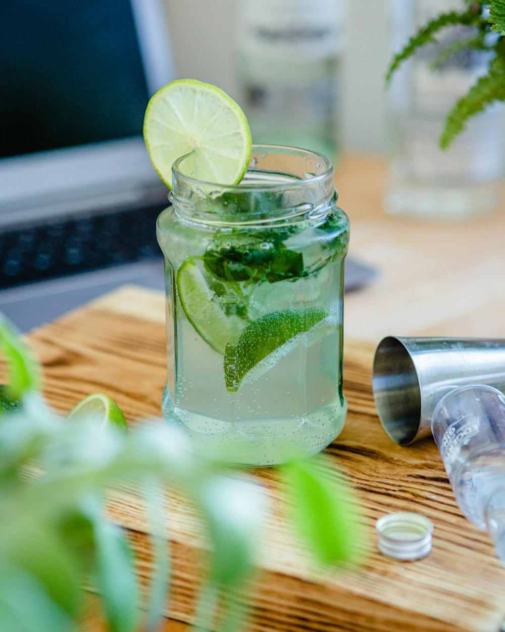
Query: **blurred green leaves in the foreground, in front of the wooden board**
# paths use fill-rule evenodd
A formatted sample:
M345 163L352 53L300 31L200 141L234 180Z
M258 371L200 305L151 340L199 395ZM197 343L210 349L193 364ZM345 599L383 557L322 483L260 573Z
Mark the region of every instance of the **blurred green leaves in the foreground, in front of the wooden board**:
M125 433L56 415L40 395L32 351L1 315L0 342L11 380L2 392L17 398L0 409L0 630L76 631L85 580L112 632L157 629L170 583L162 507L175 489L198 507L210 543L196 628L242 631L268 516L262 488L194 458L186 434L159 420ZM290 463L280 473L293 526L314 559L352 560L361 536L347 487L323 462ZM120 480L134 480L145 495L154 557L145 600L126 533L104 518L105 491Z

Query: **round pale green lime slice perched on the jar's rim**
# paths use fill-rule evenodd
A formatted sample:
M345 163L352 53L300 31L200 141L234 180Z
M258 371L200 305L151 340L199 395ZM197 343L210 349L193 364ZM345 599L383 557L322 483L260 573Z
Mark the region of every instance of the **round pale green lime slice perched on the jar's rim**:
M169 83L151 97L144 140L169 188L172 164L190 152L184 174L222 185L238 184L251 159L251 131L241 108L220 88L191 79Z

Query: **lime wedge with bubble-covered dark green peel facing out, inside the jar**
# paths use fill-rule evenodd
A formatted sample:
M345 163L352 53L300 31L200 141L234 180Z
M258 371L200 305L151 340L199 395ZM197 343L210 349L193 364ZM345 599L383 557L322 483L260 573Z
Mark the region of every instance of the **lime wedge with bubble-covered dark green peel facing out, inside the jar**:
M330 310L323 307L309 307L304 310L282 310L268 313L247 325L237 344L228 344L225 350L224 368L226 387L238 391L242 380L253 369L258 376L271 368L279 359L279 353L291 348L299 334L312 334L323 322L330 327ZM334 320L334 319L331 319ZM309 337L312 343L316 337ZM278 351L279 353L275 353Z

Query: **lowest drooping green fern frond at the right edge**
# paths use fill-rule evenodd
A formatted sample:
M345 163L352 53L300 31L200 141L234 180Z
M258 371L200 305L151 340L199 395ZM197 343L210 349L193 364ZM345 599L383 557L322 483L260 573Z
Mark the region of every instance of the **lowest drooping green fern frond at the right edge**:
M442 149L447 149L455 137L465 129L471 116L482 112L495 100L505 101L504 40L499 41L496 52L496 58L490 62L487 75L481 76L449 112L444 131L440 137Z

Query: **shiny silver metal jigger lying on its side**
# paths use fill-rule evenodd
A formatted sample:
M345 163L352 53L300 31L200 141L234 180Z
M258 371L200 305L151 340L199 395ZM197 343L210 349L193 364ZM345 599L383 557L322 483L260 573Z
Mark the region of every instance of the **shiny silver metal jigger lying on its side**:
M429 436L441 398L469 384L505 391L505 340L388 336L377 346L372 374L377 413L400 446Z

